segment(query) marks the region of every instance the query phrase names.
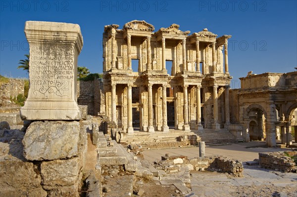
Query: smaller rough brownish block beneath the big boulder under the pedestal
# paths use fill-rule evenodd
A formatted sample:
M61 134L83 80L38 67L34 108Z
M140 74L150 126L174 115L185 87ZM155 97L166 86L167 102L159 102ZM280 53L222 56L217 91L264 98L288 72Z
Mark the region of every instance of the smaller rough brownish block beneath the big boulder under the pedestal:
M43 161L41 164L42 184L45 189L54 189L57 186L72 186L78 181L79 158L57 159Z

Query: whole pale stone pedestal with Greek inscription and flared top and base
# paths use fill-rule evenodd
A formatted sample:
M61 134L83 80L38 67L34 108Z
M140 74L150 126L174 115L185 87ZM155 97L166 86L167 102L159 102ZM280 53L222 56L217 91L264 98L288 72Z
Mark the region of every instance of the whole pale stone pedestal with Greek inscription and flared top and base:
M77 57L83 37L77 24L27 21L30 45L27 101L23 120L78 120L76 99Z

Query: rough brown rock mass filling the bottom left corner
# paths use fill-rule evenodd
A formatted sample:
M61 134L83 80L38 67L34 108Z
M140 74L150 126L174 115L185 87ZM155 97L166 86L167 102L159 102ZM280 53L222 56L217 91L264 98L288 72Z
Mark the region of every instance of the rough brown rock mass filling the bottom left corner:
M0 130L0 197L46 197L38 166L23 157L20 130Z

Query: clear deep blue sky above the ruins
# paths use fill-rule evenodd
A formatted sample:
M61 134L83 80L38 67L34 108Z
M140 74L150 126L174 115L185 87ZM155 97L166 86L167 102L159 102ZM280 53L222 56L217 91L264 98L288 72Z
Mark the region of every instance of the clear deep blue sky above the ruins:
M78 65L102 73L104 25L120 28L132 20L145 20L155 31L171 24L180 30L203 28L229 39L232 88L239 88L247 72L287 73L297 67L297 1L265 0L0 0L0 75L28 78L17 70L29 53L25 21L76 23L84 38Z

